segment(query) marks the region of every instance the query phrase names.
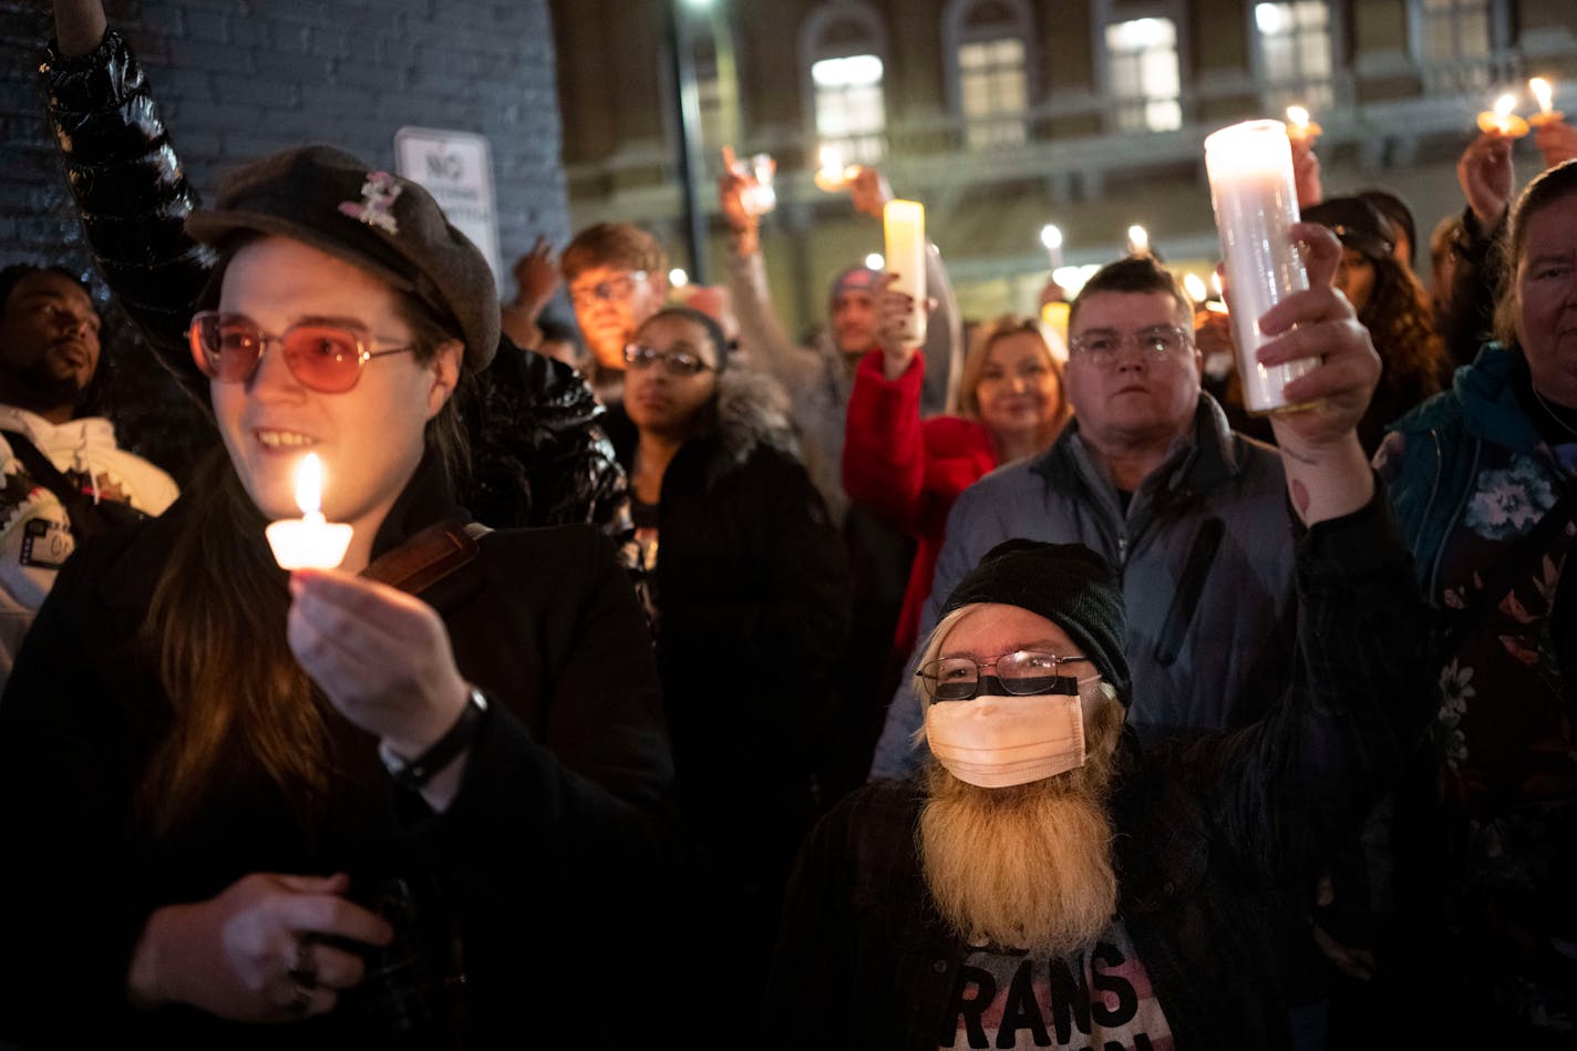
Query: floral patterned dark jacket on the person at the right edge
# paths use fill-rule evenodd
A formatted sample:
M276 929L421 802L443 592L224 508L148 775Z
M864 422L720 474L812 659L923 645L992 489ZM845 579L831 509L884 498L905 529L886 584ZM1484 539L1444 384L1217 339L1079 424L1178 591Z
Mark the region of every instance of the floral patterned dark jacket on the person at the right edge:
M1459 950L1446 966L1489 997L1482 1010L1577 1035L1577 705L1563 675L1577 595L1556 603L1577 527L1541 551L1520 543L1577 484L1577 436L1544 440L1528 390L1522 353L1486 346L1392 425L1375 467L1449 639L1430 734L1443 854L1429 866ZM1492 578L1500 593L1481 595Z

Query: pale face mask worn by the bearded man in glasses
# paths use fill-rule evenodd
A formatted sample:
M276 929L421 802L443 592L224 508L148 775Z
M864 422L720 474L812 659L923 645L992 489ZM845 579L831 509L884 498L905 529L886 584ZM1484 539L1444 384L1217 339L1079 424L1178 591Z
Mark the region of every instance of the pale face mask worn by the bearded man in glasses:
M1061 693L941 701L926 709L926 740L960 781L1028 784L1083 765L1083 704Z

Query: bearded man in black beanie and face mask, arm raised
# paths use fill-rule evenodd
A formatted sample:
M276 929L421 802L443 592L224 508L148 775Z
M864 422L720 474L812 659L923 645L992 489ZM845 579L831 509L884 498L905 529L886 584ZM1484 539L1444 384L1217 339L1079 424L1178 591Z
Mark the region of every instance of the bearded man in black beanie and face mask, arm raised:
M1290 1048L1277 893L1350 835L1430 710L1430 617L1356 423L1380 363L1299 226L1312 290L1262 319L1314 409L1274 417L1298 660L1260 721L1140 746L1121 589L1080 544L1009 540L915 669L927 765L807 841L770 985L776 1046ZM1296 330L1293 328L1296 325Z

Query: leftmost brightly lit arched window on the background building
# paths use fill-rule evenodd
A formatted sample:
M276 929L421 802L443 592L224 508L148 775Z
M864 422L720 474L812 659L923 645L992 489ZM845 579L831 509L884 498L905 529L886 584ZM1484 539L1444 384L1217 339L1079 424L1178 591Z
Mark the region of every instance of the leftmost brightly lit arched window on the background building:
M800 30L807 112L815 137L847 163L880 161L886 140L886 39L864 3L828 3Z

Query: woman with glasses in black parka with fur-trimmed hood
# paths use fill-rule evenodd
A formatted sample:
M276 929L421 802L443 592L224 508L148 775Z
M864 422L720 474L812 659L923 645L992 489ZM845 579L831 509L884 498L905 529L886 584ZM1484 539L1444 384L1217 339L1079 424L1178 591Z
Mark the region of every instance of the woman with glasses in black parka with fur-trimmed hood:
M785 395L729 361L724 347L716 324L695 311L648 320L626 352L624 404L610 410L609 432L640 481L631 492L643 589L692 887L710 900L702 922L724 920L736 969L759 963L763 971L751 977L760 980L788 868L823 806L817 750L848 626L847 570L826 507L793 453ZM684 391L708 390L684 402ZM684 407L656 421L653 398ZM670 442L681 439L659 494L647 480L651 464L642 464L658 426ZM722 999L711 997L708 1010Z

